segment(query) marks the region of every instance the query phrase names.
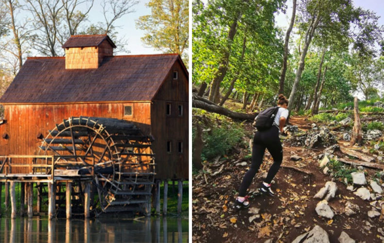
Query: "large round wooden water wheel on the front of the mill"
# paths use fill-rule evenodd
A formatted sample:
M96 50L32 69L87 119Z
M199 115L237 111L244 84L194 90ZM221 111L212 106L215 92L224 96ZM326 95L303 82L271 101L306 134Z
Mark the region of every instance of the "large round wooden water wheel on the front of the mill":
M55 176L93 180L93 209L147 210L155 175L151 142L127 121L72 117L49 131L39 154L54 156Z

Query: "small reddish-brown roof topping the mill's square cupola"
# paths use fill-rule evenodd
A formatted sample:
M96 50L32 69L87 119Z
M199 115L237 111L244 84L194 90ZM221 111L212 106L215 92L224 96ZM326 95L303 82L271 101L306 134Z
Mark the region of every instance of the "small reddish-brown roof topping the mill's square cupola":
M116 48L115 43L108 35L71 35L64 43L64 48L70 47L93 47L99 46L104 40L107 40L113 48Z

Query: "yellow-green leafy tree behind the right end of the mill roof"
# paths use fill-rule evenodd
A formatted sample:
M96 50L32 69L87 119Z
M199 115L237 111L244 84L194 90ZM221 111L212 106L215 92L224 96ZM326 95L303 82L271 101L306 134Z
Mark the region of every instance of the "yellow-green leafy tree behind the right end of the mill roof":
M178 53L188 59L188 0L150 0L151 15L141 16L136 26L146 34L144 44L165 53Z

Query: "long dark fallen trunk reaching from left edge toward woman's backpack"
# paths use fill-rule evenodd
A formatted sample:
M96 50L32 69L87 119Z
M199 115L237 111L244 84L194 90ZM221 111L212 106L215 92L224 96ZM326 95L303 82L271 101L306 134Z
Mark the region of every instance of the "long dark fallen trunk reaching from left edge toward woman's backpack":
M219 106L217 104L213 104L212 102L206 102L204 98L202 97L192 97L192 107L193 108L200 108L209 112L214 112L217 114L221 114L224 116L227 116L232 119L239 119L239 120L250 120L253 121L257 114L259 113L240 113L240 112L234 112L231 110L228 110L222 106Z

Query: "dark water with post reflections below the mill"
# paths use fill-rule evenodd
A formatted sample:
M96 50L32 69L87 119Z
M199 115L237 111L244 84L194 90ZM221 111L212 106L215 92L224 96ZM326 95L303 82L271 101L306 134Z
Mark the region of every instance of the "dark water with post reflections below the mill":
M1 218L0 227L0 239L4 239L4 243L188 242L188 219L180 217Z

